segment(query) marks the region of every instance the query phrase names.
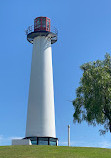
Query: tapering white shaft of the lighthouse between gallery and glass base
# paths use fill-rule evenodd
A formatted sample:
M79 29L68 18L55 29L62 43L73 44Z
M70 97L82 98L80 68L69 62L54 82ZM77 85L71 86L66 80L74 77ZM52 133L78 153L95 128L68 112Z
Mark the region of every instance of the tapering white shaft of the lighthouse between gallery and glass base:
M56 137L51 40L34 38L26 137Z

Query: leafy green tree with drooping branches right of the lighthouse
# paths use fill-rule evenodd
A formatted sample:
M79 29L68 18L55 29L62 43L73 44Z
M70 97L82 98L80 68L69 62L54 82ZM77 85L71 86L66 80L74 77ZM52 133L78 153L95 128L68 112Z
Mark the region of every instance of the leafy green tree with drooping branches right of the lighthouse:
M86 121L89 125L104 125L100 134L111 132L111 56L103 61L83 64L80 86L73 100L74 123Z

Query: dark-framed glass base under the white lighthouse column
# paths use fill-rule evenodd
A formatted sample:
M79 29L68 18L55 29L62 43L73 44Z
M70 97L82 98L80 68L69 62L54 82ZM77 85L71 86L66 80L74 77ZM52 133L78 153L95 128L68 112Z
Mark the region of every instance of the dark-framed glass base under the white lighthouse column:
M53 137L25 137L29 139L32 145L52 145L58 146L58 138Z

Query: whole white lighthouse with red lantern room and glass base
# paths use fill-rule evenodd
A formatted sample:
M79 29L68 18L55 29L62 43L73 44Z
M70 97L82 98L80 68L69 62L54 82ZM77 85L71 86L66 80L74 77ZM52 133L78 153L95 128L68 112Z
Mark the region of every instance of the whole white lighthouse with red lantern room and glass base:
M33 51L25 139L32 145L57 145L51 49L57 31L51 30L47 17L37 17L32 29L27 30Z

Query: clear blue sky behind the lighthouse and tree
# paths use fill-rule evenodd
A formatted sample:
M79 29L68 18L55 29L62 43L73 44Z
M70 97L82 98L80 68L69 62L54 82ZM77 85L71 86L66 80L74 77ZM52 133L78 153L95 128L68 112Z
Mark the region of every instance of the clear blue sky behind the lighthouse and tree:
M34 18L47 16L59 32L52 45L56 133L59 145L67 145L67 125L72 146L111 148L111 134L102 127L73 124L75 90L80 65L111 54L110 0L6 0L0 2L0 145L25 136L32 45L25 29Z

